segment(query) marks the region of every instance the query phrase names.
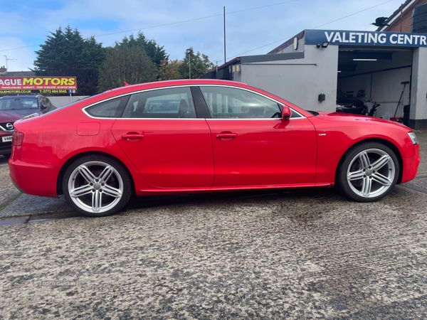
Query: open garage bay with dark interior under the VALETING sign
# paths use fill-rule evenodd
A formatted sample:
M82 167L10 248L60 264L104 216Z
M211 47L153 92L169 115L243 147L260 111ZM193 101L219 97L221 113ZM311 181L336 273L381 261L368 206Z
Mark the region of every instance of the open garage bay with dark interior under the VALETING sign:
M364 102L373 117L407 125L412 54L412 48L339 46L337 105L357 113Z

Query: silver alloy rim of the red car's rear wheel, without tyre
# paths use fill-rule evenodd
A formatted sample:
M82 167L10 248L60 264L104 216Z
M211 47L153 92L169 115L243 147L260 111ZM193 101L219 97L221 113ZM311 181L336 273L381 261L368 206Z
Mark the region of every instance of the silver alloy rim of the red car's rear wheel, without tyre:
M102 161L80 164L68 179L68 192L76 206L91 213L103 213L120 201L123 181L118 171Z

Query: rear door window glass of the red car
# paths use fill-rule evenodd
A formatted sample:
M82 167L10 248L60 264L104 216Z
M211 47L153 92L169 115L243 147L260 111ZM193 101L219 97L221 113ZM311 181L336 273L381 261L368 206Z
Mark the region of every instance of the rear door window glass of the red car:
M131 95L123 118L196 118L191 89L174 87Z

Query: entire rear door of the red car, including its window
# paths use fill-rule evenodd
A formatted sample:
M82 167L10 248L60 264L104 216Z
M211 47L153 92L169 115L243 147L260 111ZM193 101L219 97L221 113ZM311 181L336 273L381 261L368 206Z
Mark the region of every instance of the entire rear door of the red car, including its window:
M190 87L131 95L112 134L153 186L209 187L214 182L209 126L196 117Z

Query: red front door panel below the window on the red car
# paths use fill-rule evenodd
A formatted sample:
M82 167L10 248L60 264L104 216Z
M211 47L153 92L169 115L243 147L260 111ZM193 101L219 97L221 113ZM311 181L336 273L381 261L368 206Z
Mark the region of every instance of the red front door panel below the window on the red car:
M310 120L207 119L214 145L214 186L312 183L316 132ZM235 138L216 137L222 132Z

